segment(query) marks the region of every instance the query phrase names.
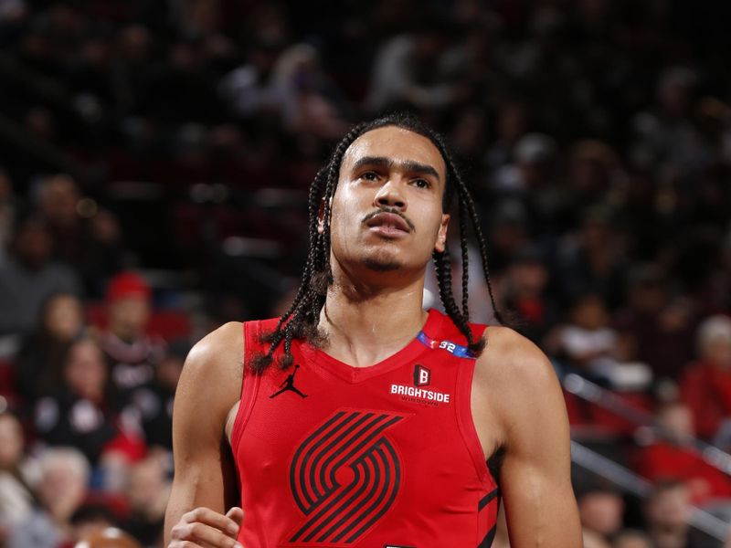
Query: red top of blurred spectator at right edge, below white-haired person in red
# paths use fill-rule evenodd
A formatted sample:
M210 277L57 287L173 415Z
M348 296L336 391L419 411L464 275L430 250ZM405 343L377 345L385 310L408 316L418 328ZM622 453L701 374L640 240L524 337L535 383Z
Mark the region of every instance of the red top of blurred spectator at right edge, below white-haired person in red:
M664 442L641 448L636 456L636 469L652 482L662 479L687 482L694 504L731 497L731 477L705 462L692 448L678 448Z

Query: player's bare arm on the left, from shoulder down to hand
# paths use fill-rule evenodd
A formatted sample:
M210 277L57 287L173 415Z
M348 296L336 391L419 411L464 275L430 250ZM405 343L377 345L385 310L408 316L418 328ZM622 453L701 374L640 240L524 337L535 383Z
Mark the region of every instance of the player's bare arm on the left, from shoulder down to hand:
M228 411L240 396L243 330L228 323L188 354L175 392L175 479L165 512L165 541L180 517L198 506L225 513L236 491L225 436Z

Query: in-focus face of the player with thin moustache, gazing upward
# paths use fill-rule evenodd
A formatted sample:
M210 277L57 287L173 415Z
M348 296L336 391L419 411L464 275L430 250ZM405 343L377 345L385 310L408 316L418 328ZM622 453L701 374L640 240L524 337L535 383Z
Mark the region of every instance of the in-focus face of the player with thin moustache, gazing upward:
M444 250L445 177L439 150L418 133L387 126L358 137L344 154L333 199L332 264L423 269L433 250Z

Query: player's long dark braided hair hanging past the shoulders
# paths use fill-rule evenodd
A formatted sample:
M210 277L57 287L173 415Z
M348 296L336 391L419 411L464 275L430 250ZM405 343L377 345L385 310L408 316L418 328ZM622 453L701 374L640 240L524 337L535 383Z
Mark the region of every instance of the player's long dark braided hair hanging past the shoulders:
M445 245L443 252L434 251L434 265L439 282L440 299L445 311L450 316L460 332L468 342L471 353L479 355L484 349L484 341L475 341L468 322L470 311L468 309L467 285L468 285L468 247L467 231L468 222L474 231L482 257L482 269L484 271L487 287L490 292L490 301L493 305L495 319L503 323L500 313L495 306L493 298L493 287L490 281L490 272L487 267L487 247L480 218L477 214L470 192L462 179L454 160L451 157L443 138L439 133L432 131L421 121L407 113L389 114L374 121L363 122L356 125L344 138L335 146L334 152L328 163L315 175L313 184L310 186L308 199L309 213L309 248L307 262L302 272L302 284L291 307L277 322L277 326L270 333L263 337L265 342L270 342L269 351L265 354L255 356L249 367L255 373L264 371L273 361L274 352L284 342L284 353L281 356L279 365L286 369L292 363L291 342L293 339L306 339L314 344L323 341L323 333L318 330L320 311L323 309L327 288L333 281L333 274L330 269L330 207L331 198L335 194L335 188L340 174L340 164L343 162L345 152L350 145L361 135L377 128L395 126L409 132L415 132L429 139L430 142L440 151L444 163L447 166L447 180L442 201L444 211L449 211L454 196L457 197L458 212L460 217L460 241L461 241L461 263L462 263L462 299L461 307L454 300L451 290L451 269L449 249ZM323 230L318 230L318 223L323 219Z

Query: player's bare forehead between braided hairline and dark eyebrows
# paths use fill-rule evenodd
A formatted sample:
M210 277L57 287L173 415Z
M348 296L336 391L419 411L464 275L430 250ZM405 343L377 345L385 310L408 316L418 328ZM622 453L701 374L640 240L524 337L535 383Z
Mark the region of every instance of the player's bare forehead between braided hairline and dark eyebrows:
M343 156L341 173L347 173L360 158L383 157L395 163L415 162L430 165L444 182L447 171L439 149L427 137L397 126L376 128L355 139Z

